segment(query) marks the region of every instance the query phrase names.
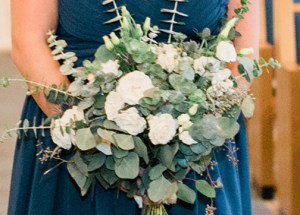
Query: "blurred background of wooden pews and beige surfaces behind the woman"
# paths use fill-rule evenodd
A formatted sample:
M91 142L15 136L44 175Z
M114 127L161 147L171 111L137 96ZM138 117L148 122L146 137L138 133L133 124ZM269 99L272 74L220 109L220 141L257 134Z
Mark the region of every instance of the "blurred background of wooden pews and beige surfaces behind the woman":
M254 0L253 0L254 1ZM256 0L257 1L257 0ZM253 215L300 214L300 0L260 1L260 55L283 68L255 80L247 122ZM10 3L0 2L0 77L20 77L10 58ZM0 133L19 121L25 84L0 88ZM0 145L0 215L7 214L15 138Z

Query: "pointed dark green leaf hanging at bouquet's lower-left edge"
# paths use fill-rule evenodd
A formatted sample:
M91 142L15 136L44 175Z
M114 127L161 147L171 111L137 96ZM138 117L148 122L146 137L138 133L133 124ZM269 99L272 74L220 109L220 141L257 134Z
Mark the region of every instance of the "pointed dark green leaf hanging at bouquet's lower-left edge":
M87 165L81 159L79 152L76 152L70 159L70 162L67 163L67 169L80 189L83 189L87 180L88 169Z

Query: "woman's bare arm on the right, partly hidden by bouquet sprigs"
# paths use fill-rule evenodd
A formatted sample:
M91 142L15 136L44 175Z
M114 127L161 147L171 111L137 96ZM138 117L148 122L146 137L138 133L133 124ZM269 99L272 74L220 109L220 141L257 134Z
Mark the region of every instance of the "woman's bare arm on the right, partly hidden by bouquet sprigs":
M250 0L249 5L250 11L244 14L245 19L240 20L236 26L236 30L242 34L242 37L236 38L234 44L236 50L239 51L241 48L254 48L254 54L250 55L250 58L258 59L259 56L259 0ZM228 4L228 18L231 19L235 16L234 9L241 7L240 0L229 0ZM238 76L237 71L238 63L230 65L235 76ZM239 79L239 84L250 86L244 78Z

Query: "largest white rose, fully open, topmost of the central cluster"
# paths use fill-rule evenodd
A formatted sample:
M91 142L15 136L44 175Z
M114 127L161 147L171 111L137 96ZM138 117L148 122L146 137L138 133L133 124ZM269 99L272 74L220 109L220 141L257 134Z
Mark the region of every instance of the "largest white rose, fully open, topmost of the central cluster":
M116 90L126 103L135 105L144 97L144 92L151 88L154 86L149 76L140 71L133 71L119 80Z

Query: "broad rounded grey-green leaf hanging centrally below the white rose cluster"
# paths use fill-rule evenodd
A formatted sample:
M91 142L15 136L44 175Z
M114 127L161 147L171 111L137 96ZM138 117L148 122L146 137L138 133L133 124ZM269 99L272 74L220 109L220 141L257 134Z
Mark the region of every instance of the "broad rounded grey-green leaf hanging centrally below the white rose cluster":
M135 179L139 173L139 156L130 152L127 157L124 157L121 164L115 165L115 172L119 178Z

